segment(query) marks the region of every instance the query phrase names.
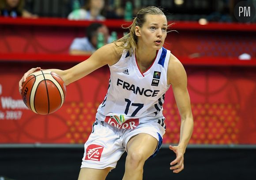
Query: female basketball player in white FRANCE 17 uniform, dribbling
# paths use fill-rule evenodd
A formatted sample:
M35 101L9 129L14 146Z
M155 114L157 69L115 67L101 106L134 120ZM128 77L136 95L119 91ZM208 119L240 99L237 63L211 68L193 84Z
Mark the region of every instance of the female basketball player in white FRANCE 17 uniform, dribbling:
M68 85L109 65L108 92L99 105L92 133L85 143L79 180L104 180L127 151L123 180L142 180L143 165L154 157L165 133L162 105L172 86L181 115L180 141L169 146L176 153L170 165L174 173L184 169L184 153L192 135L193 117L187 76L181 62L163 48L167 20L156 7L141 9L130 33L95 51L89 59L65 71L52 69ZM26 77L40 67L26 72Z

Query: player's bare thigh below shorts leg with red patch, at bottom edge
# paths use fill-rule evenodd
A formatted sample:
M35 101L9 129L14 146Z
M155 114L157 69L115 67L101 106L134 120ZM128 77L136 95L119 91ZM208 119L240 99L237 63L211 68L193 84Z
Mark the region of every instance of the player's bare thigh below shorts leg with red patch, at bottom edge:
M111 169L111 167L105 169L81 168L78 180L105 180Z

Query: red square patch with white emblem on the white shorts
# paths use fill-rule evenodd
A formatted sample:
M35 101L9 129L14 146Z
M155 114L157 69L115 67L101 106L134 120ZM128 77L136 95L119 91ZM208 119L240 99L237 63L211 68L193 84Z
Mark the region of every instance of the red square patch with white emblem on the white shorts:
M85 160L101 161L102 151L104 147L96 144L91 144L86 149Z

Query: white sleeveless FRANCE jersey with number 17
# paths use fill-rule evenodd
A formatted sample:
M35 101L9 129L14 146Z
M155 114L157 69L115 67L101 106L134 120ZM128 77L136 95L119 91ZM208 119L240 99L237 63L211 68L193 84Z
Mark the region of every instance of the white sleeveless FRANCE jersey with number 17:
M170 51L161 48L151 67L141 72L136 56L125 50L120 60L109 66L108 92L99 105L96 118L122 129L133 129L138 124L155 121L165 127L162 105L167 84Z

